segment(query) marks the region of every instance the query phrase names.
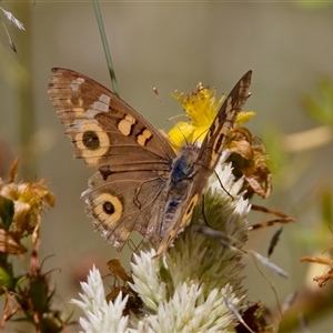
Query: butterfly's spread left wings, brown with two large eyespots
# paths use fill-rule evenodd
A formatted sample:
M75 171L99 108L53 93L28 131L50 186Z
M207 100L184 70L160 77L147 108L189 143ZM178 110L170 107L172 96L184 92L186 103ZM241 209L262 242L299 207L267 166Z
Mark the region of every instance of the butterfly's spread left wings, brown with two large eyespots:
M155 239L175 157L167 139L114 93L72 70L53 69L48 92L74 157L99 169L82 193L97 229L118 250L132 230Z

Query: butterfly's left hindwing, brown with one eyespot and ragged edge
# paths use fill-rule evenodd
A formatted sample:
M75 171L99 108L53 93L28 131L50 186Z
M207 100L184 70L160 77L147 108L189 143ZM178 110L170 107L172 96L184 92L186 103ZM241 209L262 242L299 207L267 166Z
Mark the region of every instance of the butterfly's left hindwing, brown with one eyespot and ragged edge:
M164 188L165 180L154 171L112 173L107 183L100 172L95 172L82 198L87 203L87 215L93 218L97 230L121 249L132 231L155 238L158 223L153 206L157 209L157 203L161 202Z

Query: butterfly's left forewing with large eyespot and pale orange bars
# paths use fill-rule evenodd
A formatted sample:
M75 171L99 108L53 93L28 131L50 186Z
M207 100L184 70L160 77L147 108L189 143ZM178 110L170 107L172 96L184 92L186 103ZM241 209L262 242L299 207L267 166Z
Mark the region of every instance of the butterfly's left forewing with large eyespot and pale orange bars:
M143 117L83 74L53 69L49 95L75 148L74 157L89 167L144 170L154 163L164 170L174 158L168 141Z

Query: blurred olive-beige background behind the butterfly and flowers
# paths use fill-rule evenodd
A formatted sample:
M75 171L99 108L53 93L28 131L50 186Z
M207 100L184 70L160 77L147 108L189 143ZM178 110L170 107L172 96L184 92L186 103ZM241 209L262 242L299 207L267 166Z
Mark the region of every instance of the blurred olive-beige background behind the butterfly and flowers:
M6 1L0 6L26 28L19 31L7 23L18 53L10 49L0 28L1 172L3 176L18 155L19 176L46 178L57 195L56 208L42 216L40 259L51 255L43 263L44 271L59 269L52 273L57 302L70 313L72 306L68 300L78 296L78 280L85 279L92 263L107 273L108 260L129 258L129 252L120 254L105 244L84 218L80 193L93 170L72 159L71 144L47 94L53 67L77 70L110 88L103 48L91 2L37 1L33 6L30 1ZM100 7L120 95L158 128L169 130L172 123L167 118L181 113L170 92L175 89L189 92L201 81L216 87L220 95L229 92L249 69L253 70L252 97L244 110L258 112L249 128L268 145L274 186L270 200L255 203L297 220L284 226L272 255L272 261L290 273L289 280L272 272L266 275L280 301L295 291L300 295L307 292L332 295L331 283L319 290L312 282L319 273L307 275L312 265L300 263L299 259L321 255L333 243L329 229L333 4L105 1ZM154 97L153 87L159 89L163 105ZM291 134L316 128L326 131L309 135L305 132L301 147L293 145L295 138ZM322 142L312 147L316 140ZM250 223L269 219L255 213L250 215ZM266 255L278 228L253 232L248 248ZM276 307L272 287L252 262L245 259L244 263L249 300ZM332 307L322 306L316 319L309 315L310 330L331 332L331 312ZM291 332L301 331L291 327Z

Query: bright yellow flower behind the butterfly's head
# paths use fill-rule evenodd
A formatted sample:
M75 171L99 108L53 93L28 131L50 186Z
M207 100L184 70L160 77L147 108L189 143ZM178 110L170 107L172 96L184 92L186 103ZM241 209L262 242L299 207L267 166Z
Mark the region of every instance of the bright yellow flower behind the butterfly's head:
M169 140L174 150L179 150L184 143L202 142L206 130L211 127L219 112L224 94L216 99L216 89L203 87L201 82L196 84L196 91L189 94L173 93L183 107L189 121L180 121L169 132ZM246 122L255 115L255 112L240 112L236 122Z

